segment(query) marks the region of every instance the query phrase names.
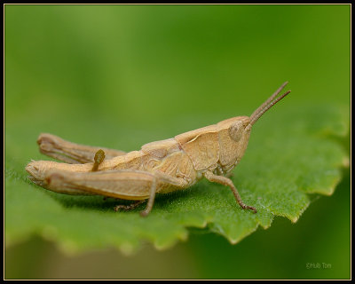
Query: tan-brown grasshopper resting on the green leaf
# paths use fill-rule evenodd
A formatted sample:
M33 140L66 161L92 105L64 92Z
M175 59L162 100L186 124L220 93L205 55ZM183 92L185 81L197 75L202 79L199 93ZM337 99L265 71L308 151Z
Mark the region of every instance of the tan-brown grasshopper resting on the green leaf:
M206 177L210 182L229 186L241 208L256 213L254 207L241 201L228 176L241 161L254 123L290 92L277 98L287 83L250 117L226 119L175 138L148 143L139 151L124 153L83 146L43 133L37 139L41 153L67 163L32 161L26 170L36 185L56 193L100 194L137 201L128 206L118 205L115 210L133 209L148 200L142 216L153 208L155 193L184 189Z

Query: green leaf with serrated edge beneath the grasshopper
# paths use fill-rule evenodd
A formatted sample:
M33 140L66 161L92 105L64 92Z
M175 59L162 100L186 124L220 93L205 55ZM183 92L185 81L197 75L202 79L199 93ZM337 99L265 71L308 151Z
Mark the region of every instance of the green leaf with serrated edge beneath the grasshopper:
M203 120L208 121L203 116L194 119ZM6 244L36 233L57 242L67 253L114 246L130 254L145 242L169 248L185 241L192 228L219 233L235 244L259 225L268 228L275 216L296 222L317 194L334 192L349 159L339 142L347 134L348 121L337 106L275 106L256 123L247 152L234 170L234 185L257 214L242 210L227 187L203 180L184 191L158 195L146 218L138 215L145 205L114 212L114 199L52 193L32 184L24 168L31 158L45 158L34 154L36 133L28 131L27 136L23 126L18 131L12 127L5 133ZM90 123L85 127L89 129ZM127 130L127 137L134 137L133 133ZM140 144L150 136L140 133ZM116 132L110 138L118 141L122 135ZM155 139L162 138L166 137Z

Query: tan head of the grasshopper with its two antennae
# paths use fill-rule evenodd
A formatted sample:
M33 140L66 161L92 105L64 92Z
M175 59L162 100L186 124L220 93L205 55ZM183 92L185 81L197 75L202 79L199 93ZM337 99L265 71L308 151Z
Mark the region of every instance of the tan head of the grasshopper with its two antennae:
M225 173L233 170L241 161L248 146L250 130L254 123L280 99L285 98L290 91L276 98L280 91L287 85L283 83L280 88L267 99L264 104L256 108L255 112L248 116L237 116L217 123L219 135L219 163ZM276 99L275 99L276 98Z

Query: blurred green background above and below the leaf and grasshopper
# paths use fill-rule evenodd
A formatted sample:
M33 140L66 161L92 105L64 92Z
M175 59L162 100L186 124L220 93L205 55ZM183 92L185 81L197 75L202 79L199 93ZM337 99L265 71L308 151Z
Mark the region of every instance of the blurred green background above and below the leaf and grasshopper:
M292 107L349 109L350 5L5 5L5 162L43 159L40 132L135 150L251 114L287 80ZM65 256L34 236L6 249L5 278L348 279L343 174L296 225L235 246L192 230L162 252Z

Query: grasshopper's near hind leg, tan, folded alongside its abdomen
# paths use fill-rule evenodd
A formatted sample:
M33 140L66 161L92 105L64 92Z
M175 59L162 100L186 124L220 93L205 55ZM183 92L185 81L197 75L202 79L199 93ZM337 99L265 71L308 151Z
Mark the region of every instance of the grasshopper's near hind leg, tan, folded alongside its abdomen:
M170 177L162 172L142 170L99 170L90 172L69 172L50 170L43 178L45 187L51 191L80 190L124 200L138 201L127 209L136 208L147 201L146 209L140 212L146 217L154 205L155 193L162 186L173 185L184 188L188 182L183 178ZM118 205L115 209L124 209Z

